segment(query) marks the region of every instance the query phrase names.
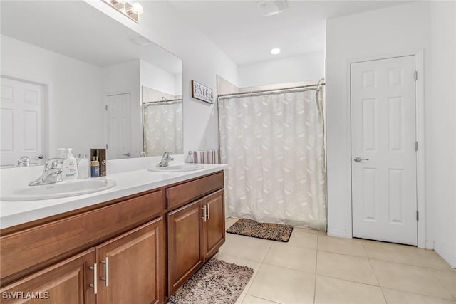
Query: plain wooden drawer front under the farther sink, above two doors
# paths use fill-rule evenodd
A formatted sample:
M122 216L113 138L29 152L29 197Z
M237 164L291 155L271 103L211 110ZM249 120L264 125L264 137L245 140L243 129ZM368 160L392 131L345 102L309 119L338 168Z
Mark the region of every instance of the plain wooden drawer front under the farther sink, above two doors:
M223 188L223 172L167 188L167 209L170 211L205 194Z

